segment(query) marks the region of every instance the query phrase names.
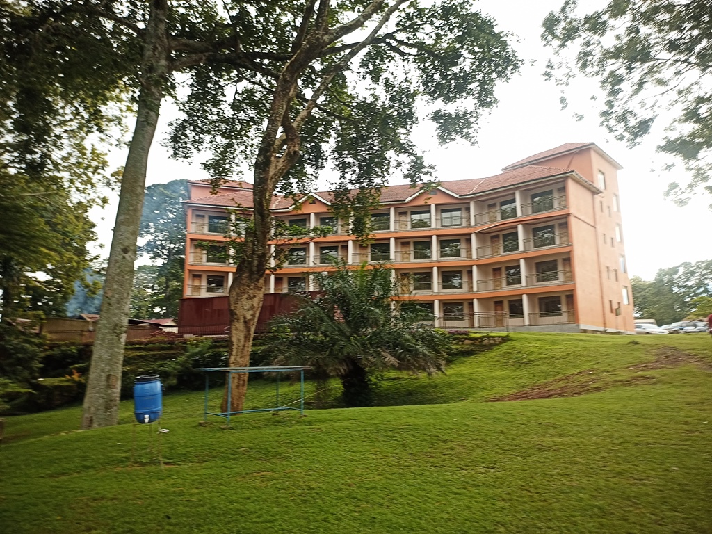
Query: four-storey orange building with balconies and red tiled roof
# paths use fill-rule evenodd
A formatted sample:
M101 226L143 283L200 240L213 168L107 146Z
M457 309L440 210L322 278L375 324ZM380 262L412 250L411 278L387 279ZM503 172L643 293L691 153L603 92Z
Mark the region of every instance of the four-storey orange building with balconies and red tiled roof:
M328 193L296 204L275 197L274 216L333 233L288 246L267 291L313 290L313 273L333 269L335 258L388 261L402 298L417 300L446 328L506 323L511 330L632 333L620 168L594 143L567 143L501 174L443 181L430 192L385 187L367 246L330 213ZM234 271L219 248L226 209L248 212L251 197L246 182L229 182L216 195L206 182L190 183L185 298L226 295Z

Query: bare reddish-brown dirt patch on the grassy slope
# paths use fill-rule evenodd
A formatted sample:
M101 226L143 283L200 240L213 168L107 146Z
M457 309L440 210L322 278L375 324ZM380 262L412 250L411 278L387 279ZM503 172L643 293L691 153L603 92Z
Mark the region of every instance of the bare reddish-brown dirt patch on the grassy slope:
M660 347L655 352L655 360L639 363L627 367L627 370L636 374L629 377L611 377L612 372L601 372L592 369L575 372L572 375L558 377L548 382L536 384L528 389L494 397L490 402L554 399L557 397L578 397L587 393L595 393L617 385L634 385L653 382L656 378L651 375L641 375L643 371L669 369L681 365L696 365L703 370L712 371L712 365L701 358L676 349L675 347Z

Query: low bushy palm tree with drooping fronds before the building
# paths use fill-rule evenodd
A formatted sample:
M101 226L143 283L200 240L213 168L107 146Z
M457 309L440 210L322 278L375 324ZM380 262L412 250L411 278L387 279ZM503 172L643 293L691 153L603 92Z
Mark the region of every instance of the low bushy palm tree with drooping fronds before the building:
M448 336L424 324L431 316L414 303L394 303L399 284L391 268L339 265L318 281L322 296L300 296L297 311L273 321L263 349L273 365L305 365L318 379L339 377L348 407L371 404L373 372L444 371Z

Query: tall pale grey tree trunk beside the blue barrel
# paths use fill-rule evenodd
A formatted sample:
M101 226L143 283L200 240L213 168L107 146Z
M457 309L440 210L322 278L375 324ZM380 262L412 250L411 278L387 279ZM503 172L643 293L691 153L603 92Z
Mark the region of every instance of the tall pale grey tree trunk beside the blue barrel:
M156 132L169 71L167 0L151 0L145 30L136 125L121 182L109 265L84 396L82 428L117 424L124 345L129 318L136 241L143 207L148 154Z

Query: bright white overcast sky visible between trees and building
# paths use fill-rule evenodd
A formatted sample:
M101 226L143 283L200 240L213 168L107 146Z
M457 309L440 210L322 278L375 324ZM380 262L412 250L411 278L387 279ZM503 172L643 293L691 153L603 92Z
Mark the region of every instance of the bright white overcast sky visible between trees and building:
M501 28L519 37L515 48L526 64L520 75L498 87L499 105L481 123L478 146L439 147L433 129L418 129L415 140L426 150L428 162L435 165L436 179L491 176L507 164L565 142L595 142L624 167L618 178L629 272L651 279L659 268L712 259L712 239L706 236L712 216L708 204L712 198L699 196L684 208L664 199L667 184L686 182L686 177L676 174L680 171L658 170L661 160L654 148L659 138L651 137L632 150L615 141L598 125L597 112L592 107L595 104L589 100L597 91L592 80L581 78L572 84L566 93L569 108L560 109L559 88L542 75L550 51L544 48L539 36L544 17L557 10L562 1L478 2L481 11L491 14ZM584 114L584 120L575 120L574 112ZM199 164L169 159L167 150L161 146L167 123L174 116L174 108L169 103L164 105L149 159L147 185L207 177ZM661 130L666 125L661 121L659 126ZM110 155L115 166L121 165L125 157L125 151L120 150ZM104 246L103 256L108 256L116 204L117 195L113 195L106 209L93 211L99 245Z

